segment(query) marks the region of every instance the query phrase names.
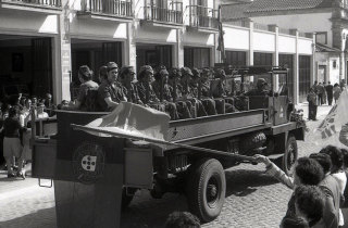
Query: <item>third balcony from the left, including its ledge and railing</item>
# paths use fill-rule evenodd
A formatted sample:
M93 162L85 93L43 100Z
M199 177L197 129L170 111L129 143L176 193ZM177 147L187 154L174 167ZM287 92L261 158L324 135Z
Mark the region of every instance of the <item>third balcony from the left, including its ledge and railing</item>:
M169 8L159 8L154 4L144 9L142 24L178 28L183 26L183 2L167 2Z

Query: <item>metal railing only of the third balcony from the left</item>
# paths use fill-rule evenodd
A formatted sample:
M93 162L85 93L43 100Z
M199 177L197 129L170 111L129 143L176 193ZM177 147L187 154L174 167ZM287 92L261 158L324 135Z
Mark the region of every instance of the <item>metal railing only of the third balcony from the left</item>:
M148 5L145 8L146 20L183 24L183 2L170 2L171 8Z

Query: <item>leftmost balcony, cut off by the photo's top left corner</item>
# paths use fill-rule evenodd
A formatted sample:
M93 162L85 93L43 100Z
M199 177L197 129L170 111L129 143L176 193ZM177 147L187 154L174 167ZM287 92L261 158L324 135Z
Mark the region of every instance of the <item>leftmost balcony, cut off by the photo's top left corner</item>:
M47 14L60 14L61 0L0 0L1 8L34 11Z

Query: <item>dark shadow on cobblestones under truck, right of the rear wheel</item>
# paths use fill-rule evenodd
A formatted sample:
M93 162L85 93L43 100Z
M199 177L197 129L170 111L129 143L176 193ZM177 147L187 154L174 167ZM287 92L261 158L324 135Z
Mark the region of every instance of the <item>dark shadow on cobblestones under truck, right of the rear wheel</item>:
M246 197L257 191L257 187L270 186L278 182L260 170L234 169L226 172L226 198L234 194Z

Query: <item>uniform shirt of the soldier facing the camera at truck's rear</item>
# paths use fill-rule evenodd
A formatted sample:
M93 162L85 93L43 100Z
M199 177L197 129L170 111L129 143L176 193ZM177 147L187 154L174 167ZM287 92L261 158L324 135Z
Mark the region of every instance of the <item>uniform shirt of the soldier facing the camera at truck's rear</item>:
M98 102L103 111L108 111L108 103L105 98L111 98L113 102L120 103L121 101L127 101L126 94L124 93L123 86L120 83L101 84L98 88Z

